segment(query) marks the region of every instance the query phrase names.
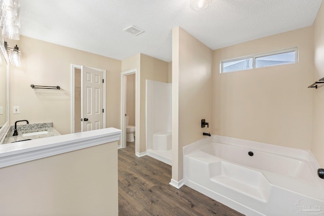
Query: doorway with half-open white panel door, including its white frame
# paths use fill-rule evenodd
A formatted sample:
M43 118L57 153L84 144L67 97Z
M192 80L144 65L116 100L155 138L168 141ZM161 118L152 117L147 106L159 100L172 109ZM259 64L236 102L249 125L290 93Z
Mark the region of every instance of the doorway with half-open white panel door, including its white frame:
M106 70L71 64L71 133L106 127Z

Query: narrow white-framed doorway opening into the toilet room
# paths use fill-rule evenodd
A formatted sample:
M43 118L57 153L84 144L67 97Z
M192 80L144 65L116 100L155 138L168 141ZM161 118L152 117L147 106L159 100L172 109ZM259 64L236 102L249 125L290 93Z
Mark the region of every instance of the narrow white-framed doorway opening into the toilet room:
M131 91L127 90L127 80L131 80L134 79L134 85L135 85L135 91L131 89ZM128 70L125 71L123 73L121 73L121 99L120 99L120 127L121 127L121 135L120 135L120 148L126 148L127 146L127 138L126 138L126 118L128 116L129 118L129 125L134 125L135 126L135 149L137 149L138 147L138 141L139 140L139 120L138 120L138 109L137 109L137 83L138 83L138 76L137 76L137 70L136 69L132 69L132 70ZM132 86L132 85L131 85ZM130 92L132 92L131 94L134 94L133 99L131 99L131 103L133 103L131 106L130 104L127 103L127 96L131 96L129 98L132 98L132 95L128 95L130 94ZM135 99L135 101L134 101ZM133 100L133 101L132 101ZM130 103L130 101L129 101ZM135 107L135 108L134 108ZM134 124L135 123L135 124Z

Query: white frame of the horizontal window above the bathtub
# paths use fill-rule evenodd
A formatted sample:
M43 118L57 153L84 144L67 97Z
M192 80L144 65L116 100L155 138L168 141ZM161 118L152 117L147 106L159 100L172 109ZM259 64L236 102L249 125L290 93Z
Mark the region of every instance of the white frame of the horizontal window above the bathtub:
M256 67L256 58L259 57L265 57L265 56L269 56L269 55L275 55L275 54L281 54L281 53L288 53L288 52L293 52L295 51L295 62L289 62L289 63L283 63L283 64L275 64L275 65L268 65L268 66L263 66L263 67L272 67L272 66L278 66L278 65L286 65L286 64L295 64L298 63L298 47L293 47L293 48L287 48L287 49L282 49L282 50L276 50L276 51L272 51L272 52L267 52L267 53L261 53L261 54L256 54L256 55L248 55L248 56L242 56L242 57L238 57L238 58L231 58L231 59L226 59L226 60L222 60L220 62L220 73L231 73L231 72L235 72L235 71L242 71L242 70L249 70L249 69L255 69L255 68L261 68L261 67ZM245 60L245 59L250 59L252 58L252 68L247 68L247 69L242 69L242 70L233 70L233 71L228 71L228 72L224 72L223 71L223 64L226 62L231 62L231 61L239 61L239 60Z

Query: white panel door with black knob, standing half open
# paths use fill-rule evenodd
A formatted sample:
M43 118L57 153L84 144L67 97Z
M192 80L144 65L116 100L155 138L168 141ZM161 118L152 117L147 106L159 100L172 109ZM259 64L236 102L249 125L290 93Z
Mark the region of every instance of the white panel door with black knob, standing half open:
M101 129L103 125L103 73L81 68L82 131Z

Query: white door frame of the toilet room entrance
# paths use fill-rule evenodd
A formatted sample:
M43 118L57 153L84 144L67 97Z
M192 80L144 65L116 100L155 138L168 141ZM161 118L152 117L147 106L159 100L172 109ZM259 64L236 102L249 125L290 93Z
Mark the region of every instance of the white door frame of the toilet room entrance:
M138 76L137 76L137 69L131 69L128 71L121 72L120 74L120 148L126 148L126 76L135 74L135 151L137 147L139 147L139 131L140 131L140 120L138 119L138 98L137 98L137 91L138 91Z

